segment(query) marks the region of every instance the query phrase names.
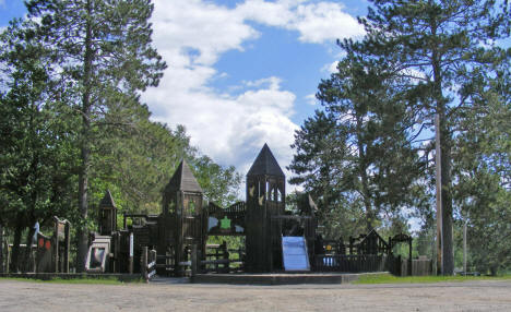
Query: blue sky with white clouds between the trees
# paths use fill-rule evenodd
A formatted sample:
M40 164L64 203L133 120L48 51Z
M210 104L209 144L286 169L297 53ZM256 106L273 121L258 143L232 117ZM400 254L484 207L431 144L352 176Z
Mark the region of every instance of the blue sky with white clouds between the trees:
M152 119L183 124L191 143L243 176L268 143L286 177L294 133L320 108L314 94L359 38L365 0L154 0L154 46L167 62L142 100ZM0 0L0 27L26 13Z

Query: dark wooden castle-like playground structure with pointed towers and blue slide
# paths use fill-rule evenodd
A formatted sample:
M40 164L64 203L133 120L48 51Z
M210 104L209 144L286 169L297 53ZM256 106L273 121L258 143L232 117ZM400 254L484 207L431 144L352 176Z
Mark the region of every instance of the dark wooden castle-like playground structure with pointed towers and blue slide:
M146 277L155 272L183 276L192 271L404 274L402 260L392 255L392 247L405 241L411 250L411 237L401 235L385 241L372 230L349 238L346 244L342 240L323 241L314 216L317 207L309 195L298 200L294 209L298 213L286 211L285 176L266 144L247 173L246 188L246 202L226 208L206 202L182 160L164 189L162 213L123 214L122 229L117 229L117 208L107 191L99 204L98 233L91 237L87 272L140 272ZM130 219L132 224L128 225ZM243 237L245 249L231 250L225 243L207 245L210 236ZM238 256L233 259L233 253ZM236 265L231 267L233 263Z

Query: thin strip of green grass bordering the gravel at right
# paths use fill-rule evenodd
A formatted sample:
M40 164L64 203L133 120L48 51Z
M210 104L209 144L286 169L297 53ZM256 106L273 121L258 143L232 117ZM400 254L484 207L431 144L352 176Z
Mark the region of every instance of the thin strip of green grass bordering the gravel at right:
M406 276L397 277L391 274L363 275L354 284L413 284L413 283L443 283L467 280L502 280L511 279L511 275L504 276Z

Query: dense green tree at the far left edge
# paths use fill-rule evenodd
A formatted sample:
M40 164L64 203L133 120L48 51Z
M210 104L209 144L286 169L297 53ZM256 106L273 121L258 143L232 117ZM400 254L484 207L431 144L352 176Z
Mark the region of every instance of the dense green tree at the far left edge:
M69 216L76 148L72 147L76 118L51 98L54 69L45 64L50 51L38 41L32 23L14 20L0 35L0 223L14 230L11 269L22 261L22 232L28 228L32 244L34 224L41 226L52 216Z

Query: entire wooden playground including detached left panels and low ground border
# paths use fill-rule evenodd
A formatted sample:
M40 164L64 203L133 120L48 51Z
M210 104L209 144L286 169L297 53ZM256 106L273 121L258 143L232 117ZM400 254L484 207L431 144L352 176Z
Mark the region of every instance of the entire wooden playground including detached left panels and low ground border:
M97 232L90 233L86 275L188 277L191 283L326 284L356 279L359 274L430 275L430 260L412 260L412 237L401 233L384 240L376 230L342 239L322 238L312 197L301 194L297 207L286 207L286 180L269 146L247 172L246 201L222 207L206 202L188 164L182 160L163 191L162 213L121 214L107 190L98 205ZM117 218L122 217L118 229ZM33 274L69 273L70 228L55 218L51 237L37 233ZM1 232L1 230L0 230ZM237 237L236 247L225 240ZM394 255L407 243L408 259ZM2 238L0 266L8 273L9 244Z

